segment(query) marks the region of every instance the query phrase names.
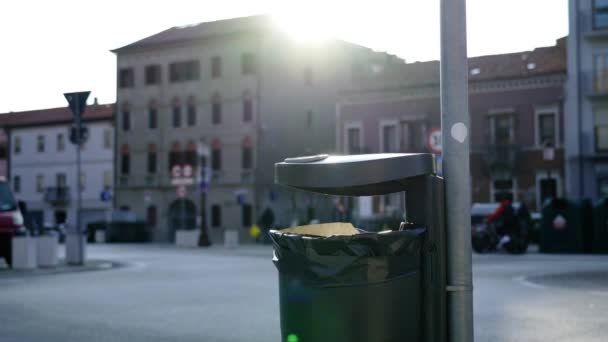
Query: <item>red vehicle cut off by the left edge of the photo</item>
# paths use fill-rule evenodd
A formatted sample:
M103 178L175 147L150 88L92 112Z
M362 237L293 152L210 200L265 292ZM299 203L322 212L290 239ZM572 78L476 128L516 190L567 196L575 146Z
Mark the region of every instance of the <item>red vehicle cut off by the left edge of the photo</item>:
M12 265L12 238L23 226L23 216L13 192L6 182L0 181L0 258Z

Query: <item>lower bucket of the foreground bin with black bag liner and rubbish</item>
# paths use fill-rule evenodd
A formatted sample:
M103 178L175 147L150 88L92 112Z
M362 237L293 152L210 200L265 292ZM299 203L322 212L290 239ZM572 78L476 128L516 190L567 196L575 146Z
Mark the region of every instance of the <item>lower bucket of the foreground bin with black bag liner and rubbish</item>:
M425 228L270 231L283 341L420 341Z

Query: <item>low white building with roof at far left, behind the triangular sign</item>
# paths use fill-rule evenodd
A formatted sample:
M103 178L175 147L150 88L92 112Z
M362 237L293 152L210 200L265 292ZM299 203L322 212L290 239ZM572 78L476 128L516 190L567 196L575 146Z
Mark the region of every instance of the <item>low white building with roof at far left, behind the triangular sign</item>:
M77 191L81 191L81 224L105 220L112 202L114 173L114 106L91 105L84 113L89 138L81 147L81 174L76 147L70 143L72 113L51 108L0 115L7 136L8 178L15 197L26 203L37 224L75 226Z

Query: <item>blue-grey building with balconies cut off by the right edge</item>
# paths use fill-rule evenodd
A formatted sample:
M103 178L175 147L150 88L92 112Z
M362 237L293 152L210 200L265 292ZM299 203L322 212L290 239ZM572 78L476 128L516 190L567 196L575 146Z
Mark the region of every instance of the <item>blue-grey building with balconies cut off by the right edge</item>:
M567 190L608 196L608 2L570 0L566 117Z

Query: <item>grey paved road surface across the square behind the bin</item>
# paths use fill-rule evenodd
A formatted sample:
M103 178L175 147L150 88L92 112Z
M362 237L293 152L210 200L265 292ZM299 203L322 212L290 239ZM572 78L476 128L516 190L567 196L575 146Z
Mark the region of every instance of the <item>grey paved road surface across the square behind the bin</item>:
M0 341L280 339L267 248L89 252L126 266L38 275L0 269ZM607 340L608 256L475 256L474 277L477 341Z

